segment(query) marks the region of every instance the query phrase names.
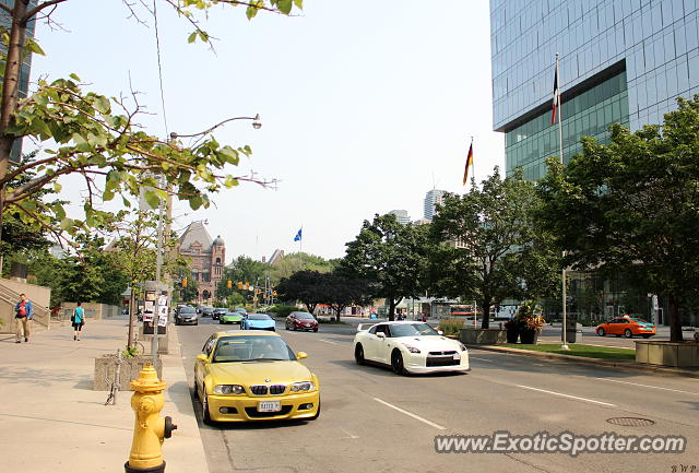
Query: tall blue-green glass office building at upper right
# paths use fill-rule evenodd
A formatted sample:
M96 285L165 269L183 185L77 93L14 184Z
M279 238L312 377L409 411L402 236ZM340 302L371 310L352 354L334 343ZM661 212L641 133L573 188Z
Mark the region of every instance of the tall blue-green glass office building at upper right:
M490 0L494 129L506 169L528 179L558 156L552 126L556 52L564 159L580 138L620 122L662 123L676 97L699 93L699 0Z

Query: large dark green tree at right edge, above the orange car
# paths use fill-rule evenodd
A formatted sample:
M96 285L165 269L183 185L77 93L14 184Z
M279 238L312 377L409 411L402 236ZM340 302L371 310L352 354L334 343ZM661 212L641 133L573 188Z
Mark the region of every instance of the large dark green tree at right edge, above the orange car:
M542 218L567 263L664 296L673 341L699 283L699 95L677 104L663 126L613 125L608 144L583 138L568 166L548 161L540 185Z

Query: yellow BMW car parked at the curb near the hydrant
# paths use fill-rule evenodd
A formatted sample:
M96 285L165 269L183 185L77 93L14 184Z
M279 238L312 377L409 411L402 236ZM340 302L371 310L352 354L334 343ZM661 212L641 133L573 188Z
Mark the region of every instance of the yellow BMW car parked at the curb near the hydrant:
M274 332L232 330L211 335L194 364L194 392L205 423L315 419L318 377Z

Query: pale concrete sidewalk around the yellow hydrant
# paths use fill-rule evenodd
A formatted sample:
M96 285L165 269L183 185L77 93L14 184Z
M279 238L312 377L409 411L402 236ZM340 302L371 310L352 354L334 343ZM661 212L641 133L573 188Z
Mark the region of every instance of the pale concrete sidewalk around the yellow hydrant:
M126 345L127 320L90 321L82 341L71 328L36 333L29 343L0 341L0 471L123 472L133 436L132 391L104 405L93 391L94 358ZM162 356L167 382L161 415L178 429L165 440L168 473L209 473L192 411L177 332Z

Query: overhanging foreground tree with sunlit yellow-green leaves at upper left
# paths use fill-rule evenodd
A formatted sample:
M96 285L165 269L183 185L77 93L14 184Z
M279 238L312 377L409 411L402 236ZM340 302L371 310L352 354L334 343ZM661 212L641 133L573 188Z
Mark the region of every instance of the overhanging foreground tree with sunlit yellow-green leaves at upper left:
M0 60L3 64L0 221L5 213L11 213L35 229L44 227L74 234L97 227L111 217L109 212L93 204L97 196L103 201L120 196L123 205L129 208L131 200L145 188L145 199L152 206L157 205L158 198L171 192L197 210L209 205L210 193L232 188L240 180L252 180L225 174L227 165L237 165L240 156L249 155L251 150L247 145L236 147L218 143L212 135L217 126L199 133L201 140L191 147L177 141L164 142L140 127L138 120L142 109L135 96L132 100L135 105L130 108L123 99L85 92L76 74L51 83L39 80L31 96L20 98L17 84L22 59L31 52L44 54L38 44L27 37L27 25L37 19L50 17L66 1L69 0L39 0L36 4L14 1L12 7L0 3L1 23L7 25L0 28ZM301 8L301 0L159 1L174 8L193 28L190 43L197 39L211 42L198 15L212 14L216 5L246 7L249 19L260 10L288 15L294 7ZM135 3L126 4L133 12ZM44 155L10 169L12 146L22 138L37 143ZM17 176L26 173L36 175L26 182L13 185ZM71 174L82 176L87 188L84 216L81 218L69 217L62 202L46 203L39 198L47 188L59 192L58 179ZM155 176L163 176L166 186L158 185Z

